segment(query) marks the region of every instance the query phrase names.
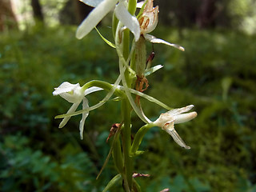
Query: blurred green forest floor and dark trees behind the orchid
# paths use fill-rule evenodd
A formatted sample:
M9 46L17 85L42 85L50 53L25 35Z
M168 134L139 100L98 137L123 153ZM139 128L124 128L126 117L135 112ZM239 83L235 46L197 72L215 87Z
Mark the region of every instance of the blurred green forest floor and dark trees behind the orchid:
M52 92L64 81L113 83L115 50L96 31L74 38L91 10L76 1L12 1L12 7L9 2L0 5L0 190L102 191L116 174L110 160L95 179L110 150L110 127L122 121L119 103L111 100L91 111L81 141L80 116L58 129L54 116L66 113L70 103ZM155 4L161 12L152 34L186 51L154 45L153 65L164 67L148 78L146 94L169 106L194 104L198 117L175 126L191 150L157 127L146 134L141 146L146 153L135 167L151 175L137 179L142 190L256 191L256 2ZM98 29L112 41L109 21ZM105 94L89 95L90 106ZM142 104L151 119L165 112L146 100ZM133 120L135 132L142 122L135 115Z

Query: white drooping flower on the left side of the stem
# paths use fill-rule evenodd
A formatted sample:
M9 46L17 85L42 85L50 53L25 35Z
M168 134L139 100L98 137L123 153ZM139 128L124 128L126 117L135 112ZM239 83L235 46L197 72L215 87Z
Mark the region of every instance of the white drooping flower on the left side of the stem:
M82 102L82 109L85 110L86 108L89 108L88 100L85 98L87 94L93 93L98 90L102 90L98 87L90 87L86 91L82 89L82 87L77 84L71 84L70 82L62 82L60 86L57 88L54 88L54 96L60 95L62 98L65 98L66 101L73 103L73 105L70 107L70 110L67 111L66 114L74 113L75 110L77 110L79 104ZM79 124L79 131L80 131L80 138L82 139L82 133L84 130L84 125L86 118L88 117L89 112L83 112L82 113L82 119ZM62 122L59 124L58 128L62 128L66 125L66 123L70 120L71 117L66 117L62 119Z

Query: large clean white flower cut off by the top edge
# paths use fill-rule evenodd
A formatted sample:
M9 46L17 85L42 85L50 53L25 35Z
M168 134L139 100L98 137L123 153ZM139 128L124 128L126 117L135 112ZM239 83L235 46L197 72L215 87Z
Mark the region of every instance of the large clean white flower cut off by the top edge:
M78 26L76 37L83 38L89 34L91 30L114 9L116 17L124 26L126 26L133 34L135 41L138 41L140 36L140 27L136 17L131 15L126 8L126 0L82 0L89 6L95 6L94 10L90 12L85 20ZM118 5L117 5L118 3ZM114 8L115 7L115 8Z

